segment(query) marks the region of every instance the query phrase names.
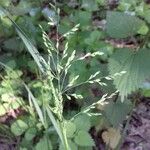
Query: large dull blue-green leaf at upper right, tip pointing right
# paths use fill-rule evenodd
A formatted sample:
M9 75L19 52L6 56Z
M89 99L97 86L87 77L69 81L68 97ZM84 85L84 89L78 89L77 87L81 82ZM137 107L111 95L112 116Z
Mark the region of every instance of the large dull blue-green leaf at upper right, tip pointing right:
M107 34L112 38L126 38L135 35L144 23L136 16L123 12L107 12Z

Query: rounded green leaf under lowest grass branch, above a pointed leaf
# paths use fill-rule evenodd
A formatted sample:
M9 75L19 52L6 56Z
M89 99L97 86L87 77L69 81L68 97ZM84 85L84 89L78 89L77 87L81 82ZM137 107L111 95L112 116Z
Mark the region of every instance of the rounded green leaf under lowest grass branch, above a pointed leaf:
M91 128L90 117L87 114L81 114L74 119L77 130L88 131Z

